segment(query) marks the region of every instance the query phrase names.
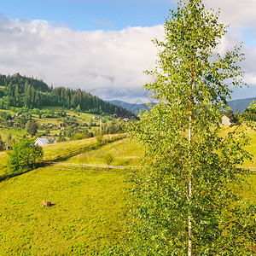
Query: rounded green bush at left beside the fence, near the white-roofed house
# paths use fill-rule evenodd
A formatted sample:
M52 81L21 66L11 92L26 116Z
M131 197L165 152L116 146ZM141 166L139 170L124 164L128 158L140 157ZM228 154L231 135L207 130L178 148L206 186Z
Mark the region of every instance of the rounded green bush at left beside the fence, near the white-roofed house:
M33 144L32 139L22 139L9 150L9 171L16 173L35 169L43 160L43 148Z

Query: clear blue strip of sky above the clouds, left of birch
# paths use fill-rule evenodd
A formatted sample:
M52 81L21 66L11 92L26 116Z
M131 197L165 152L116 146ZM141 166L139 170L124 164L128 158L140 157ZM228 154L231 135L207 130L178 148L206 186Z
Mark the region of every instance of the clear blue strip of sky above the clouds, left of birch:
M72 30L122 30L127 26L163 23L170 0L2 0L1 12L11 19L49 20Z

